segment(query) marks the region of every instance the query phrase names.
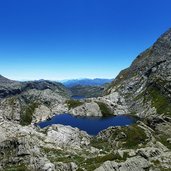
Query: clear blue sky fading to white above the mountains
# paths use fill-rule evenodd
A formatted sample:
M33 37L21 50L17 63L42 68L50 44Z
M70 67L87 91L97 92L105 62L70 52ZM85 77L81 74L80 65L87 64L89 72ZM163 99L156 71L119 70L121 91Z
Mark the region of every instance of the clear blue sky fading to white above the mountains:
M171 0L1 0L0 74L113 78L171 27Z

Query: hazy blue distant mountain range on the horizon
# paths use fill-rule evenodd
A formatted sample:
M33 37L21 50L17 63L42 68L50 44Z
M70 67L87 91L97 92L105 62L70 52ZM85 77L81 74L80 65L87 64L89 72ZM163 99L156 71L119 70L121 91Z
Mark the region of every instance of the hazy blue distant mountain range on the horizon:
M62 84L64 84L66 87L73 87L77 85L82 86L101 86L106 83L112 82L113 79L101 79L101 78L95 78L95 79L73 79L73 80L66 80L61 81Z

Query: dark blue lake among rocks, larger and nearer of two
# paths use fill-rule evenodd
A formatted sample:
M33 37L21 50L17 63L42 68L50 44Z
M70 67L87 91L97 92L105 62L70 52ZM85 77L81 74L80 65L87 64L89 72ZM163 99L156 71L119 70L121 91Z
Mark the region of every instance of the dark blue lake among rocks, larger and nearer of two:
M39 122L37 126L44 128L52 124L70 125L86 131L90 135L97 135L110 126L127 126L135 123L136 118L129 115L111 117L76 117L70 114L55 115L51 120Z

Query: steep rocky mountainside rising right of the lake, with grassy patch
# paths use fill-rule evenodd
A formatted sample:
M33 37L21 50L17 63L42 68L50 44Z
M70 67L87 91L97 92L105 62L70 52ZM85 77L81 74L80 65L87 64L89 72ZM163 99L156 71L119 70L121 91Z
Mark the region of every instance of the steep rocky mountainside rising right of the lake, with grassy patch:
M115 91L124 96L132 113L171 116L171 29L121 71L106 93Z

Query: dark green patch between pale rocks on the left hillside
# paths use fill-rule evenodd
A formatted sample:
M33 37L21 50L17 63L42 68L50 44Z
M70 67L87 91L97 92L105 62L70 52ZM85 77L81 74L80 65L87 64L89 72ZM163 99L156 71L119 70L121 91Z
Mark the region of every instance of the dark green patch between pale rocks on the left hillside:
M33 113L38 106L39 106L39 103L32 102L22 110L21 115L20 115L21 125L31 124Z

